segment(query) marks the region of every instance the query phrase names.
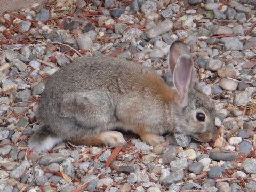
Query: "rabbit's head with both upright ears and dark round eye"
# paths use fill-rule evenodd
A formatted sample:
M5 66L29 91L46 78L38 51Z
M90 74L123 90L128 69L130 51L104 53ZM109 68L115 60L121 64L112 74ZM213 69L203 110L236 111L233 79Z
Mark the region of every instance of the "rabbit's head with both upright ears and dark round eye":
M175 132L207 142L216 137L214 101L197 84L193 60L186 44L175 41L170 47L169 68L173 74Z

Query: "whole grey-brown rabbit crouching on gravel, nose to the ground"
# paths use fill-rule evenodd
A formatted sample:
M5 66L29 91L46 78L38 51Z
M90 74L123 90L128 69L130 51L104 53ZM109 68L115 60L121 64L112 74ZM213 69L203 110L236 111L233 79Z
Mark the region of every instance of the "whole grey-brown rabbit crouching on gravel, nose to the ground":
M43 126L29 140L38 152L62 141L75 145L126 145L132 131L155 146L164 133L208 142L216 135L213 100L197 86L186 44L174 41L168 61L174 87L138 63L106 55L85 57L46 79L38 116Z

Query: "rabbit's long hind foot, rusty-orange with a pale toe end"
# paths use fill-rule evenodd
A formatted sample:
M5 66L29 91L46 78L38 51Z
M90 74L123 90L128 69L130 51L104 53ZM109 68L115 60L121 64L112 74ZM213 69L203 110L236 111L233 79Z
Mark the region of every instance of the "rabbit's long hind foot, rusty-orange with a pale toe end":
M90 138L81 138L76 141L69 141L75 145L107 145L111 147L125 146L123 134L118 131L102 131Z

